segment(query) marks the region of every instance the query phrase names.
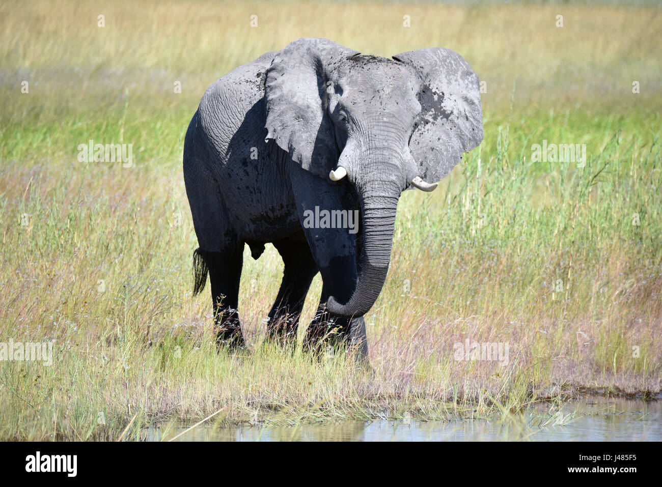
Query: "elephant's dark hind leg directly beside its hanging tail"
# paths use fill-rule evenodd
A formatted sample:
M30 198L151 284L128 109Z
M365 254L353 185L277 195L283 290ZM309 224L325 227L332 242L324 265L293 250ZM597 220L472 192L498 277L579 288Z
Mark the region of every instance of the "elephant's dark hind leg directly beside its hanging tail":
M239 281L242 275L243 244L236 243L220 252L199 251L209 269L214 308L216 345L243 348L239 313Z

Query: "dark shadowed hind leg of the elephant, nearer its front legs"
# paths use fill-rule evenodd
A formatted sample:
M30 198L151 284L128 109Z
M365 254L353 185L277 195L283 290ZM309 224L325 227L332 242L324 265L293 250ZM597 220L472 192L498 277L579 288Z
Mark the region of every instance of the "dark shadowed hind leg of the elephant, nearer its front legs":
M278 296L269 311L268 336L283 345L293 344L306 294L318 267L305 241L278 240L273 246L283 258L285 269Z

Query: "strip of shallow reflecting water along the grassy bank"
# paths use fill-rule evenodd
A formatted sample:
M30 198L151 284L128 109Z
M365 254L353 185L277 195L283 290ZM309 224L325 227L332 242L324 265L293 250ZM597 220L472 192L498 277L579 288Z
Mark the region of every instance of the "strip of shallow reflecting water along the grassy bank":
M165 425L164 425L165 426ZM186 429L170 428L166 439ZM166 430L150 428L148 441ZM536 406L506 420L344 421L294 427L196 427L182 441L662 441L662 401L582 398L561 411Z

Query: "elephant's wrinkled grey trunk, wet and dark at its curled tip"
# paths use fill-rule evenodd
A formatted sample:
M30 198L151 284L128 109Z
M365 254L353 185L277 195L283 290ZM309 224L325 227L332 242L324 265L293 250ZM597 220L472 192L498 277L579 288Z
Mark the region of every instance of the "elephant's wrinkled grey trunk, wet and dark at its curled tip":
M360 272L354 293L345 304L338 303L334 296L331 296L326 303L330 313L345 318L352 316L356 318L368 312L375 304L389 271L395 213L400 191L391 183L378 185L373 182L370 186L373 189L380 186L379 194L366 188L361 191L359 187L363 240L359 261ZM384 187L390 186L393 186L393 189L385 193Z

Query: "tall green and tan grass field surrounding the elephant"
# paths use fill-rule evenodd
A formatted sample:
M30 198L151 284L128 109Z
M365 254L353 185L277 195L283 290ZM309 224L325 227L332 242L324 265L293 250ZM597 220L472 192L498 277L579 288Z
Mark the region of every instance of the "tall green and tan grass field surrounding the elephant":
M632 5L3 1L0 342L54 340L54 359L0 361L0 439L655 396L659 32L660 9ZM485 81L481 148L434 193L402 196L366 316L374 376L262 345L282 272L271 245L244 257L244 355L216 354L209 296L191 297L185 128L213 81L303 36L381 56L444 46ZM134 164L79 162L89 140L133 144ZM544 140L586 144L585 165L532 162ZM316 277L301 333L319 291ZM455 360L467 338L508 343L508 364Z

